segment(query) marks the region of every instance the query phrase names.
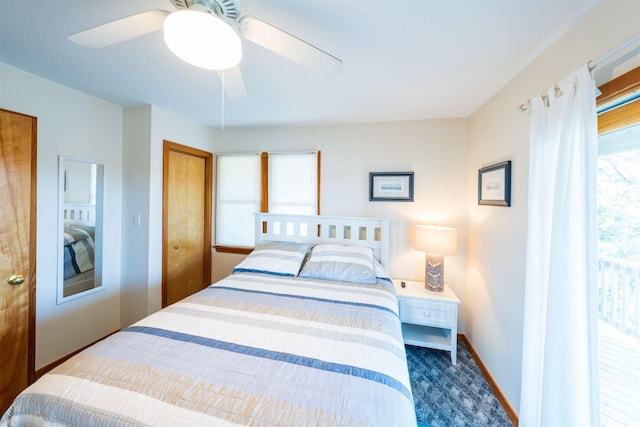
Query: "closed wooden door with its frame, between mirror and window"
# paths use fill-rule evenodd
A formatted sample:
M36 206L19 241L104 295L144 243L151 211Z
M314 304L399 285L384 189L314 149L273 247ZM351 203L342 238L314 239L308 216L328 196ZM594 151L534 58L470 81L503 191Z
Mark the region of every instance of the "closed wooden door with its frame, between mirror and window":
M162 306L211 283L211 164L206 151L164 141Z

